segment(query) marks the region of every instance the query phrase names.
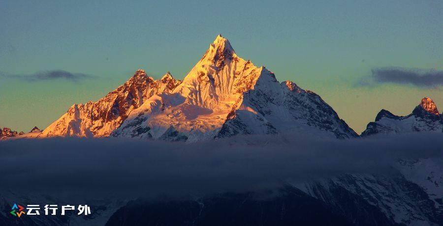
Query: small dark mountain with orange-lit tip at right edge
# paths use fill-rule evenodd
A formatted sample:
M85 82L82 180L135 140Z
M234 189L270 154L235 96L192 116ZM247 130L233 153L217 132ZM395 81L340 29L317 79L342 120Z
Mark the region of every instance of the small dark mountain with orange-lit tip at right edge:
M377 114L375 122L369 123L361 135L419 131L443 131L443 117L434 101L429 97L421 99L418 106L407 116L397 116L382 109Z

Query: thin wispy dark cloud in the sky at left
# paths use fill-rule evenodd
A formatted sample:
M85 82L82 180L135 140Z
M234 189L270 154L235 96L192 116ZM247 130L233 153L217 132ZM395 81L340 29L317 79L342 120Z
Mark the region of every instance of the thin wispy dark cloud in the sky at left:
M96 76L94 75L83 74L83 73L72 73L64 70L40 71L33 74L8 74L0 72L0 76L5 78L21 79L28 82L56 80L56 79L63 79L71 82L79 82L86 79L96 78Z

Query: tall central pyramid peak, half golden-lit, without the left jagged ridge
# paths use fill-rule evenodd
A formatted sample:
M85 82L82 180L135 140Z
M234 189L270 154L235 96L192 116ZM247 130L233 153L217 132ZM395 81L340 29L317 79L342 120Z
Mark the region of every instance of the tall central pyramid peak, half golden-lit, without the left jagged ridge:
M357 136L318 95L279 83L264 66L238 57L219 35L183 83L148 98L111 135L195 141L287 131Z

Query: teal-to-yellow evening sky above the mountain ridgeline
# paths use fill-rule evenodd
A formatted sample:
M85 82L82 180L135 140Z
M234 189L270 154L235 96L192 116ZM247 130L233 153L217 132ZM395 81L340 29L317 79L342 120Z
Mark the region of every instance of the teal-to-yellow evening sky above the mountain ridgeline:
M443 110L442 21L442 0L0 0L0 126L44 129L138 68L181 79L221 33L361 132L381 108L407 115L424 96Z

